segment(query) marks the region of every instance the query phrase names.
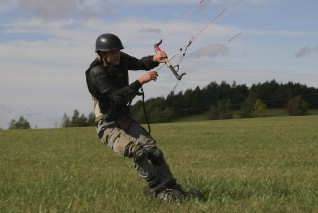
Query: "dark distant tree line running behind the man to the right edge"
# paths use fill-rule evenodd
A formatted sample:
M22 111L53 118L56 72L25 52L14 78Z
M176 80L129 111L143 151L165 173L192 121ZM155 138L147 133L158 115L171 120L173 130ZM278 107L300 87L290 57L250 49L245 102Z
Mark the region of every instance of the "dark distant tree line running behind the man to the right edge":
M284 109L289 115L307 115L308 109L318 109L318 88L300 83L278 83L275 80L247 87L235 82L220 84L211 82L202 89L187 89L166 98L157 97L145 101L151 123L173 122L189 116L206 114L208 119L231 119L239 111L241 118L267 116L267 109ZM146 123L141 100L131 106L133 118ZM75 110L72 116L64 114L62 127L93 126L94 114L87 117Z

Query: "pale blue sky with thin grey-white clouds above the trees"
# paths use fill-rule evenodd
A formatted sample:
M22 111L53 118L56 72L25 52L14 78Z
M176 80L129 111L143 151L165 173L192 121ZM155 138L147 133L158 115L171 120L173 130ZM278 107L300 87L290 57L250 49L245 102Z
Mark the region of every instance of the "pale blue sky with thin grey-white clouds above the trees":
M64 113L92 112L85 70L103 33L137 58L161 39L175 56L186 75L178 81L163 66L144 85L146 99L213 81L317 88L317 8L316 0L1 0L0 128L20 116L31 128L55 128ZM131 71L130 81L143 72Z

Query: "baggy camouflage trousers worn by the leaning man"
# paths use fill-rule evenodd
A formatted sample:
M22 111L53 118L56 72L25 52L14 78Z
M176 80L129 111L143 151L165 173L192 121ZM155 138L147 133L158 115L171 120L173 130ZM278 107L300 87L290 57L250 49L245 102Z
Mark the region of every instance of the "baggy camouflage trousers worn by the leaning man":
M103 144L122 157L133 158L135 152L141 148L147 152L151 149L158 150L156 140L130 118L117 120L117 122L101 120L97 126L97 134ZM150 160L142 163L134 160L134 167L148 183L149 180L156 179L159 184L163 184L171 180L173 175L163 155L162 158L163 163L160 165L155 165Z

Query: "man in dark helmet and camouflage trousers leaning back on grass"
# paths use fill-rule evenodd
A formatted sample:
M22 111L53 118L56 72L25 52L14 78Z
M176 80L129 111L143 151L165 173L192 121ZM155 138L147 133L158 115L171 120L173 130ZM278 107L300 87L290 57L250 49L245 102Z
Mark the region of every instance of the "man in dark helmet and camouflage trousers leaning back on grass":
M114 34L102 34L96 40L97 58L86 71L86 81L92 95L97 123L97 135L102 143L120 156L133 158L134 167L146 181L145 193L166 201L179 202L189 196L176 183L155 139L129 113L129 104L143 84L156 81L154 67L164 62L163 51L136 59L121 52L121 40ZM129 84L128 70L150 70Z

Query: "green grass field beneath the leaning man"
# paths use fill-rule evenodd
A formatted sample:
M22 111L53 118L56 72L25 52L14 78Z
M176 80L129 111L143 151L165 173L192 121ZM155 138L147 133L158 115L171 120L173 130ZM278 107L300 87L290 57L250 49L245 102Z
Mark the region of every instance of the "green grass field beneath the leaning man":
M0 212L318 212L318 116L152 125L177 180L206 201L143 195L94 128L0 131Z

